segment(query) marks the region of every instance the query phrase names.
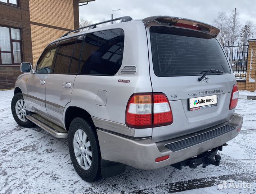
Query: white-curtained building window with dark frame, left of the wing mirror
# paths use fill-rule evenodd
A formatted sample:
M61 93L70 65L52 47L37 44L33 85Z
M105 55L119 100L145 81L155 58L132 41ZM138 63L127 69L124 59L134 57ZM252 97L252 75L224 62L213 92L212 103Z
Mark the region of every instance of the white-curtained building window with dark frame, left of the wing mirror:
M21 61L22 52L20 29L0 26L0 64L19 65Z

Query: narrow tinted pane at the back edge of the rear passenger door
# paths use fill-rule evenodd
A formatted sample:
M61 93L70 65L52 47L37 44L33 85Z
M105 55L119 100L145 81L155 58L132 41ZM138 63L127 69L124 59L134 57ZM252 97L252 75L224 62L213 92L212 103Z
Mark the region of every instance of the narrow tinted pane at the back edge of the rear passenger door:
M84 39L84 36L77 38L75 50L73 52L73 56L71 59L71 66L70 66L70 70L69 70L70 74L77 74L83 39Z

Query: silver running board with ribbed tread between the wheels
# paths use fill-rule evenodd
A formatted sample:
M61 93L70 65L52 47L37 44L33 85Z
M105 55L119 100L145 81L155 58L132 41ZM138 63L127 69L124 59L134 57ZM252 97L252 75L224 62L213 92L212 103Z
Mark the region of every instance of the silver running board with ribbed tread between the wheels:
M68 131L63 129L62 127L44 119L40 115L35 113L27 115L27 119L35 123L37 126L40 126L42 129L53 135L57 138L67 138Z

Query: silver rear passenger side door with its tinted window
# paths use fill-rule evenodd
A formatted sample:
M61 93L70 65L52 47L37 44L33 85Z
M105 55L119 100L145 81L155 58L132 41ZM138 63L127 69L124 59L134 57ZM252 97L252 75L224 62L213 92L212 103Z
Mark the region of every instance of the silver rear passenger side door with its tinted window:
M71 100L83 39L84 36L79 36L59 43L54 69L46 83L46 110L61 125L64 107Z

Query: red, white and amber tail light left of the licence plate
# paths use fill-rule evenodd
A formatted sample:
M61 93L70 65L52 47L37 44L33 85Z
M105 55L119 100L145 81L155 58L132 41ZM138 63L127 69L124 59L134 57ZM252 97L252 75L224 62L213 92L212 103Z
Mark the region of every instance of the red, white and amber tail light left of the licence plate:
M169 101L163 93L135 93L126 106L125 123L132 128L172 124Z

